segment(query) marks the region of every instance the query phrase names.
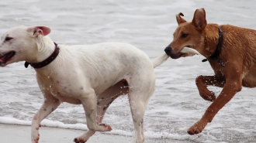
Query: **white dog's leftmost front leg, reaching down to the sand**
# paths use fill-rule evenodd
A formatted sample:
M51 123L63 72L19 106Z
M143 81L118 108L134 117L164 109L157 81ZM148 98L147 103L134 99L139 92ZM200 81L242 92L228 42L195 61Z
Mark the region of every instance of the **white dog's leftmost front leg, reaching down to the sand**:
M40 122L47 117L51 112L53 112L60 104L61 102L57 100L56 98L50 96L44 96L45 100L40 107L40 110L37 111L37 113L33 117L33 121L31 124L31 141L32 143L38 143L40 134L38 132L40 128Z

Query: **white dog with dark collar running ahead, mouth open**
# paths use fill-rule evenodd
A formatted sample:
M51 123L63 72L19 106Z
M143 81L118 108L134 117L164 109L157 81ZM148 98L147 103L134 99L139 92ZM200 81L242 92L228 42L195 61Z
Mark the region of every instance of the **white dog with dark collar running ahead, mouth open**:
M85 142L95 131L111 131L102 124L106 109L116 97L128 94L135 128L135 142L144 141L144 111L154 92L154 67L168 56L154 60L125 43L57 46L45 26L19 26L1 37L0 65L26 61L36 70L44 102L32 121L32 142L39 141L40 122L61 102L82 104L89 131L74 138Z

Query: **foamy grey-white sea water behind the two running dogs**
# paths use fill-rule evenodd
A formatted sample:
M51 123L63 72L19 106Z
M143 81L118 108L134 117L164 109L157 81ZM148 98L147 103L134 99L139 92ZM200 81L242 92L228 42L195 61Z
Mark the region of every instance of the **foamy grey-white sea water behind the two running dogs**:
M58 44L130 43L153 59L171 43L178 12L192 21L195 9L205 8L209 23L256 29L255 5L253 0L1 0L0 35L12 26L48 26L49 36ZM211 104L199 96L195 86L197 76L213 75L209 63L202 63L202 59L168 59L155 68L156 90L144 116L146 137L203 143L255 142L256 89L245 87L201 134L187 134ZM0 68L0 123L29 125L43 103L35 71L30 66L26 69L23 63ZM209 89L216 96L221 91L218 87ZM112 126L108 134L133 135L127 96L111 104L103 122ZM87 130L83 107L67 103L42 125Z

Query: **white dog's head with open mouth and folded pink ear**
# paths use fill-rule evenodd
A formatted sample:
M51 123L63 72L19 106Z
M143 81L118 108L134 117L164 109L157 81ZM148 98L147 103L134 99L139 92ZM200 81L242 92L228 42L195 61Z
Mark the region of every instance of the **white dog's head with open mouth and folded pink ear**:
M50 33L45 26L19 26L9 29L0 39L0 66L19 61L36 61L38 43Z

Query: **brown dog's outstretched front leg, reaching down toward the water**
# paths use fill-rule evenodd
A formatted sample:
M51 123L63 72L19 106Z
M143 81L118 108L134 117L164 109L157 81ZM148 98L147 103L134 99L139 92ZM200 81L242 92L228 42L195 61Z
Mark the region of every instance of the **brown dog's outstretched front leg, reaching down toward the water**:
M240 79L240 78L237 78ZM189 128L189 134L199 134L205 127L206 124L213 120L213 117L217 114L220 109L227 104L234 95L242 89L242 82L235 81L233 79L227 82L223 87L220 95L213 101L208 107L202 118L196 122L191 128Z

